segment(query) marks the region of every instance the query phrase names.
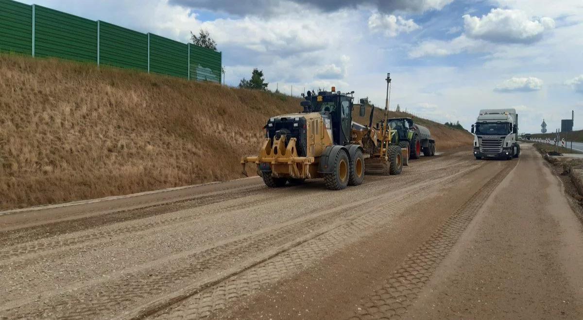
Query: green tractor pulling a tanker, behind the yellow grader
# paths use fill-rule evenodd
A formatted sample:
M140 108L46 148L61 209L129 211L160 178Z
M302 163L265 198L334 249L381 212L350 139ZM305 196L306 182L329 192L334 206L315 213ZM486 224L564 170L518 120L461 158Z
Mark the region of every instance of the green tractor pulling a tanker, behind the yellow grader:
M413 123L412 118L387 119L387 125L397 131L401 148L409 148L411 159L419 159L422 152L426 157L436 154L436 141L431 138L431 132L426 127Z

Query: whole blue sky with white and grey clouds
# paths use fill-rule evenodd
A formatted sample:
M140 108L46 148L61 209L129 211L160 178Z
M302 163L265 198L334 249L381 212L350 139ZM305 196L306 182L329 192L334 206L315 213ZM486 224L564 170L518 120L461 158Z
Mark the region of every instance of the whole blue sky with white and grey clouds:
M226 83L253 68L269 89L335 86L439 122L515 108L521 132L575 111L583 129L581 0L34 0L21 1L188 42L206 29ZM299 106L298 106L299 109Z

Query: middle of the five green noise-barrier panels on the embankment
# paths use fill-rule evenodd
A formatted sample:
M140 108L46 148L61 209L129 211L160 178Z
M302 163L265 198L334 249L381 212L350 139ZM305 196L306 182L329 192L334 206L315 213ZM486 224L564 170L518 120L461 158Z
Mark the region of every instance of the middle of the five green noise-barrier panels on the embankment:
M147 34L100 21L99 63L147 71Z

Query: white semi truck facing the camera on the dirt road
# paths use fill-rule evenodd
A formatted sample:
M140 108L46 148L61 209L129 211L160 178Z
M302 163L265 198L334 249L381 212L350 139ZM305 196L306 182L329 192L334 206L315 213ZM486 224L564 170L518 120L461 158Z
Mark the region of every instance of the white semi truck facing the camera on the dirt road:
M516 109L483 109L472 125L476 159L512 159L520 155Z

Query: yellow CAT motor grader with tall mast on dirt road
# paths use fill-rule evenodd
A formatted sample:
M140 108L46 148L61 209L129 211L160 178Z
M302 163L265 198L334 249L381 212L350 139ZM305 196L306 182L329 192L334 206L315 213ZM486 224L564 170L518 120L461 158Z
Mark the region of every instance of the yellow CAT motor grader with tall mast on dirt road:
M384 125L390 83L388 75L385 121L375 128L371 123L362 126L352 122L354 91L343 94L335 87L318 94L308 91L300 104L303 112L268 120L259 155L241 159L243 173L247 175L246 163L255 163L268 187L324 178L331 190L357 186L363 183L365 173L400 174L409 150L401 150L396 131ZM365 105L361 99L360 116L366 112Z

